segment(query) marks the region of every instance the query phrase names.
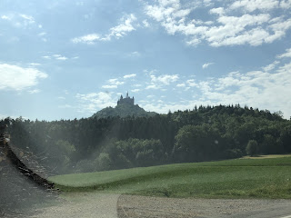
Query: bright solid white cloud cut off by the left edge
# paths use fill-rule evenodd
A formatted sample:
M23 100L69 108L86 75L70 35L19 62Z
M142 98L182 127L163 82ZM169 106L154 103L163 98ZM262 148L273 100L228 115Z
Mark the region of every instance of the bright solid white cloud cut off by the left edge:
M47 74L35 69L12 64L0 64L0 90L21 91L38 84Z

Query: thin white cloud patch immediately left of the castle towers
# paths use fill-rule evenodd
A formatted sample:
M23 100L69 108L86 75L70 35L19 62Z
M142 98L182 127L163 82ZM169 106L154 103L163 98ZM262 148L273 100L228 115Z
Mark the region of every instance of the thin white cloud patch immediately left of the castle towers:
M78 112L80 113L94 114L99 109L116 104L115 97L112 96L112 93L76 94L75 97L80 101L80 105L78 106Z

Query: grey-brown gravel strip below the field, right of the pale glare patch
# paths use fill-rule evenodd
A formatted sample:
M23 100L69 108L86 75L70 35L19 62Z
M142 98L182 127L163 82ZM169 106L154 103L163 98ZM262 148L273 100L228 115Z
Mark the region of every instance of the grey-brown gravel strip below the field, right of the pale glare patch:
M177 199L121 195L117 210L119 218L184 218L233 217L240 213L265 211L277 206L290 206L289 200L257 199ZM234 216L236 217L236 216Z

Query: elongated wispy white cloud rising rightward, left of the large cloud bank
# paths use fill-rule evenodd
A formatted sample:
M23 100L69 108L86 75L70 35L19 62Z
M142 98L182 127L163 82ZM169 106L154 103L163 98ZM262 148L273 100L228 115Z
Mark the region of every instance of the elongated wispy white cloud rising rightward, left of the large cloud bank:
M133 23L135 22L135 15L125 15L120 19L120 25L116 25L109 29L109 34L107 35L83 35L80 37L75 37L72 39L72 42L77 43L85 43L88 45L93 45L96 41L110 41L113 37L119 39L124 37L127 33L135 31L135 27Z

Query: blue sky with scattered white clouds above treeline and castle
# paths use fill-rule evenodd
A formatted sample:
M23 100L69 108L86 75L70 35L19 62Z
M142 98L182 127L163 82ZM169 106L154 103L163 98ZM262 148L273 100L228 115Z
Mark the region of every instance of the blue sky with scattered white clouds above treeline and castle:
M1 0L0 118L240 104L291 116L291 0Z

